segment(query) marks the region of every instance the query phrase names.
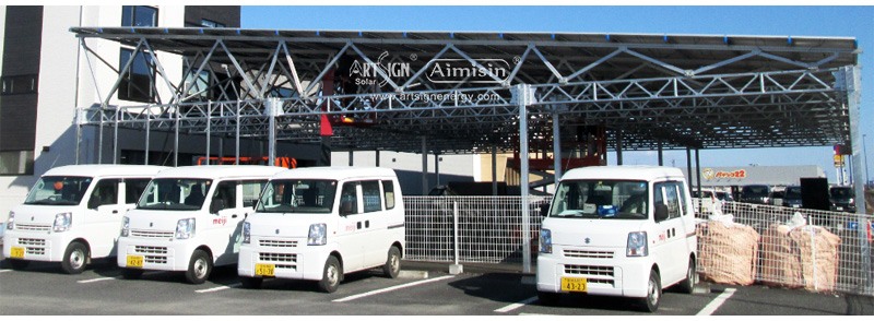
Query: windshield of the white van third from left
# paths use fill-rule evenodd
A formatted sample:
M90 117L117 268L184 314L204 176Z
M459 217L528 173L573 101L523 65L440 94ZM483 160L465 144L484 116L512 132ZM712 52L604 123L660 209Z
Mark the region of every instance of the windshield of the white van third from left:
M258 213L312 213L328 214L334 205L336 180L277 179L271 180L261 200Z

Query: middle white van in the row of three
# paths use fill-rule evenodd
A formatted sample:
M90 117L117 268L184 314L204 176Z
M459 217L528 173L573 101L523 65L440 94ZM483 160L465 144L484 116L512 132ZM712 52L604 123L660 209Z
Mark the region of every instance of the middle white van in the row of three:
M213 266L237 263L243 219L268 179L282 167L186 166L167 169L146 187L121 223L118 266L125 278L143 270L186 271L200 284Z

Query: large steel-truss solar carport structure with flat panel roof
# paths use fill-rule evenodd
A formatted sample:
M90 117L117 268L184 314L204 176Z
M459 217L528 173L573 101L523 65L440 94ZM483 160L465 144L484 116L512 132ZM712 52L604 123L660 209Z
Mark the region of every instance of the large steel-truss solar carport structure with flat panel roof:
M848 144L853 176L862 177L854 38L163 27L71 32L95 78L105 69L118 75L113 87L98 90L102 102L78 107L80 129L259 138L270 142L270 157L276 141L287 141L331 151L423 153L423 158L518 151L527 159L531 145L551 145L559 155L567 129L595 126L606 130L607 148L617 152L618 163L622 151ZM110 105L135 67L113 66L107 61L115 56L92 49L105 40L134 48L150 61L152 88L139 90L173 94L147 105ZM167 57L182 58L180 79L165 72ZM521 173L528 173L527 162ZM521 180L528 185L527 175Z

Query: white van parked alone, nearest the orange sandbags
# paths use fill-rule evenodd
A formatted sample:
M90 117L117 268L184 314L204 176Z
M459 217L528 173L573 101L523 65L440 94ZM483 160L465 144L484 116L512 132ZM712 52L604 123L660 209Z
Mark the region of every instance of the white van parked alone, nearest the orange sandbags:
M568 170L540 233L538 296L559 294L641 298L659 308L662 289L697 281L697 238L683 173L656 166L593 166Z

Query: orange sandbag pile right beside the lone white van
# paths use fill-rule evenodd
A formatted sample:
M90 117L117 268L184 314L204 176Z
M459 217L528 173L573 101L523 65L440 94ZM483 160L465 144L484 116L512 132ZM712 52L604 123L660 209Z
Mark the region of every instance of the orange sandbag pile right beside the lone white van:
M756 280L759 235L749 226L710 221L698 224L698 271L704 280L751 285Z

